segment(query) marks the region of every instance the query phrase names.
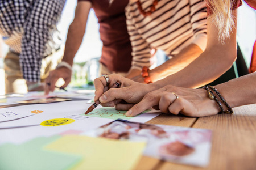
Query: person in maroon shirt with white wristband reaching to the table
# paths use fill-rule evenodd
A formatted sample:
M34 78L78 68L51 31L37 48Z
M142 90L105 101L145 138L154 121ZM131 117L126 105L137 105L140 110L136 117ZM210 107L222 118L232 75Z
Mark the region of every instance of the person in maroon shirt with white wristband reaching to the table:
M51 71L46 82L45 93L54 91L55 83L63 78L67 87L71 81L73 59L85 34L90 8L93 8L100 24L102 54L100 73L118 73L123 76L131 67L131 42L126 28L125 6L129 0L78 0L75 18L68 29L62 62ZM86 55L86 54L85 54Z

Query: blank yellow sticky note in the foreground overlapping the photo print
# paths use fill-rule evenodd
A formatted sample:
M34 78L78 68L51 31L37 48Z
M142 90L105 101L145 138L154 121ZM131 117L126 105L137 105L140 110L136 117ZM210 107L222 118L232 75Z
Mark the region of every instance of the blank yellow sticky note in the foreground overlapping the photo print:
M138 163L144 146L144 142L67 135L46 149L82 156L82 161L72 169L128 170Z

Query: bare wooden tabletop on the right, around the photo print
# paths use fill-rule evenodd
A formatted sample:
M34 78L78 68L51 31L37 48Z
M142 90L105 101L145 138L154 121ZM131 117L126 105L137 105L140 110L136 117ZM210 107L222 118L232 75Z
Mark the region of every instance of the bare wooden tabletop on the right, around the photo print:
M147 123L212 130L210 163L199 168L143 156L135 168L137 170L256 169L256 104L234 108L234 114L201 118L160 114Z

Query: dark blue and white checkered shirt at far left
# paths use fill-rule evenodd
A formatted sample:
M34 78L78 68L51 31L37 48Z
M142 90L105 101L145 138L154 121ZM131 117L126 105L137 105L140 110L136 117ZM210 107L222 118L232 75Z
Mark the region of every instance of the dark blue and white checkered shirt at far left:
M56 24L65 0L1 0L0 34L19 54L24 79L40 81L41 59L60 48Z

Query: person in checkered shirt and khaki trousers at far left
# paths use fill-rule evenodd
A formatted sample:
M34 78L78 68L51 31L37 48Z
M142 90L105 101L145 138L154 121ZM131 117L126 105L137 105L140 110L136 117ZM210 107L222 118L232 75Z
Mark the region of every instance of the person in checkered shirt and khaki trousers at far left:
M6 93L43 90L41 82L63 57L57 22L64 4L65 0L0 2L0 35L10 48L4 59Z

